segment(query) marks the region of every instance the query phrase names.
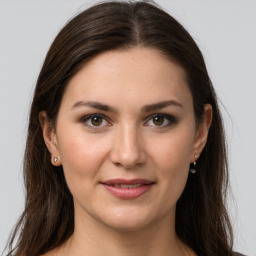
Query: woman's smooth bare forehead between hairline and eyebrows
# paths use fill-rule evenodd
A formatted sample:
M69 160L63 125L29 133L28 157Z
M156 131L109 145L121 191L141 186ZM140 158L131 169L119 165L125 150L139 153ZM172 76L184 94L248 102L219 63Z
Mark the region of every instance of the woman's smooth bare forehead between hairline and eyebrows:
M184 69L158 50L132 48L101 53L70 80L63 103L79 100L140 105L174 99L191 103Z

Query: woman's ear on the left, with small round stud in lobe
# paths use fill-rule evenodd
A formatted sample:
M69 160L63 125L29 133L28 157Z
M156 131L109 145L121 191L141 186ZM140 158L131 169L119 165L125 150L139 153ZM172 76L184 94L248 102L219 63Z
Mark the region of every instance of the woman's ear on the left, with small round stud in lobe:
M49 121L46 111L41 111L38 118L42 128L45 145L51 154L51 163L54 166L60 166L61 159L58 150L57 136L53 124Z

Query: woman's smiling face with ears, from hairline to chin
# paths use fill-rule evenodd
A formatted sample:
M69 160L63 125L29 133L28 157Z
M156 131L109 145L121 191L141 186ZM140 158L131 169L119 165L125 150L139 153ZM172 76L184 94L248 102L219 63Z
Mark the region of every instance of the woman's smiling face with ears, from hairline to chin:
M157 50L133 48L87 62L67 86L56 128L42 127L75 218L134 230L174 219L209 119L196 126L180 66Z

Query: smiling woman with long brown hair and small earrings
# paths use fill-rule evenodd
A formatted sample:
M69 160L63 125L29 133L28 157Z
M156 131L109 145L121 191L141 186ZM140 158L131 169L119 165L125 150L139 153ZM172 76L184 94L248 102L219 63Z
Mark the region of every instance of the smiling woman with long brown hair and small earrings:
M215 92L192 37L154 4L72 19L28 129L10 255L235 255Z

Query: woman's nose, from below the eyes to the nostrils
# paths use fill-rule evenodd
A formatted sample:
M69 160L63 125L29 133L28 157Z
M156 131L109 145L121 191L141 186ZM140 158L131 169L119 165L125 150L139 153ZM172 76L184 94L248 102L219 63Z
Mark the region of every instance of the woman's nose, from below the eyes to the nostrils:
M136 127L124 126L117 129L110 153L110 159L115 165L132 169L146 161L142 137Z

